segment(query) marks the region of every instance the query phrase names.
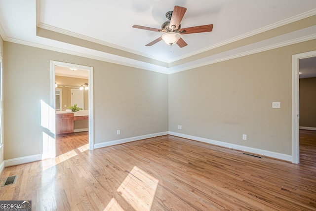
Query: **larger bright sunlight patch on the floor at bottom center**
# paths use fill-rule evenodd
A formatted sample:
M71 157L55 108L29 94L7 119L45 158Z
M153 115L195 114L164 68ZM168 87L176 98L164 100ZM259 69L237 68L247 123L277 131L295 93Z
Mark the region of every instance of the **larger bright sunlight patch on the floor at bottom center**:
M135 166L117 191L135 211L150 211L158 182L158 179Z

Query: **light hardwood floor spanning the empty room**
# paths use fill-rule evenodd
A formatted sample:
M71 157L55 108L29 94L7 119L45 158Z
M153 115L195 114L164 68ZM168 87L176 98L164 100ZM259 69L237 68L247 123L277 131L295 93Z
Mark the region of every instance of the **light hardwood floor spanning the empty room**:
M5 168L0 200L34 211L315 211L316 131L302 130L299 165L165 135ZM69 136L70 137L70 136Z

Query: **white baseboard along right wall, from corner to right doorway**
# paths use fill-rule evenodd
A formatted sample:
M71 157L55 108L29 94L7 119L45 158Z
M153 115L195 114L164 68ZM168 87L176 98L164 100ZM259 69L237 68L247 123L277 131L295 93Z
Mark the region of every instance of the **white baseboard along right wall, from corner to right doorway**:
M231 143L222 142L222 141L211 140L211 139L207 139L207 138L201 138L201 137L192 136L192 135L181 134L181 133L177 133L177 132L169 131L169 134L174 135L174 136L178 136L178 137L182 137L182 138L192 139L195 141L214 144L217 146L227 147L227 148L231 148L231 149L236 149L236 150L240 150L240 151L244 151L244 152L254 153L254 154L258 154L258 155L268 156L271 158L276 158L276 159L292 162L291 155L286 155L286 154L281 154L281 153L277 153L277 152L271 152L271 151L267 151L267 150L241 146L241 145L237 145L237 144L231 144Z

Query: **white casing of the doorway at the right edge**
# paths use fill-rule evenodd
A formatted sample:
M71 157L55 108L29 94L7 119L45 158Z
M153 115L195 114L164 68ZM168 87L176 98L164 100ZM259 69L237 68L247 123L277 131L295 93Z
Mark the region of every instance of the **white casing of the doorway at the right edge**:
M292 163L300 163L299 60L316 56L316 50L292 55Z

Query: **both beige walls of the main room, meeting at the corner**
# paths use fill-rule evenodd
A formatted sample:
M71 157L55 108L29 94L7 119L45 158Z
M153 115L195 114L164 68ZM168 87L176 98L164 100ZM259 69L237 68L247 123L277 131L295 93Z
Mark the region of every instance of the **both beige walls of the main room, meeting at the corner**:
M4 42L4 159L41 153L50 60L94 68L95 143L169 129L291 155L291 56L312 50L316 40L168 76Z

